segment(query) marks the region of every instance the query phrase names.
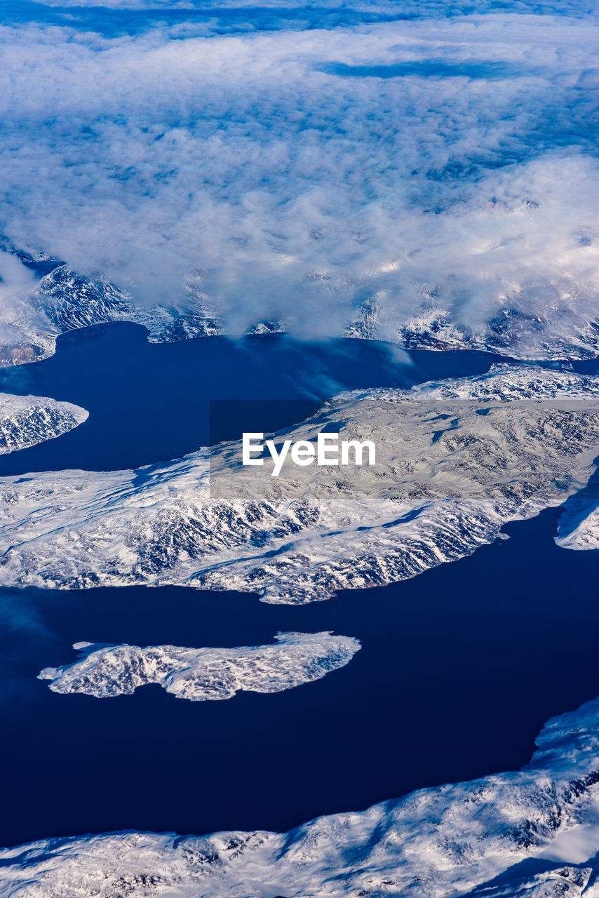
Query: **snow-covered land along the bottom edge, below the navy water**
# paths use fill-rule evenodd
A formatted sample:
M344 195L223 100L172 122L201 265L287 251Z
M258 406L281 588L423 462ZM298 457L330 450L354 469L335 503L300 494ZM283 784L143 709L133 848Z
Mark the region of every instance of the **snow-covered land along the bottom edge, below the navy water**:
M0 851L5 898L596 898L599 700L552 718L522 770L291 832L113 832Z

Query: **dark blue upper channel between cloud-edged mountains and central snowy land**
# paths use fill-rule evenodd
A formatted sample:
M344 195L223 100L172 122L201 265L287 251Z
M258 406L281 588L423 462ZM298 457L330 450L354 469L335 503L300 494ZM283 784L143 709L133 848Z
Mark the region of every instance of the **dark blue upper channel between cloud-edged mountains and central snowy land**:
M75 402L90 412L70 433L0 456L0 476L84 468L117 471L166 462L210 442L209 403L237 403L213 418L213 439L295 423L344 389L404 387L452 374L488 371L504 358L484 352L398 354L391 344L339 339L301 343L286 337L225 338L152 344L145 328L113 324L58 339L56 355L0 368L0 391ZM244 415L244 403L265 403ZM301 403L301 405L298 405Z

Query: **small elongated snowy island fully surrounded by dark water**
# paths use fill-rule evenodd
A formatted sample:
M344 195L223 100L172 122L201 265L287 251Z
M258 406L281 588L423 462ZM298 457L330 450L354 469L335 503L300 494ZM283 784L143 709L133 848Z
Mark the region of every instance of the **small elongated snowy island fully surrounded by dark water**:
M237 691L282 692L320 680L344 667L360 648L357 639L322 633L279 633L273 646L183 648L98 646L77 642L81 657L46 667L40 680L55 692L83 692L97 699L130 695L158 683L178 699L232 699Z

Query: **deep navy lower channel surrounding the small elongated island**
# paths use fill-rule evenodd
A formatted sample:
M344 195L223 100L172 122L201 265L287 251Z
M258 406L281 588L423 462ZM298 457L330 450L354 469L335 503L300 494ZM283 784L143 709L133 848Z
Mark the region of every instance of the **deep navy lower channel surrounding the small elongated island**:
M4 591L0 841L121 828L286 830L414 788L517 769L543 722L599 694L599 553L553 542L559 511L379 589L276 606L175 587ZM567 602L565 599L567 598ZM362 640L345 668L273 695L97 700L35 679L79 640L237 646L278 630Z

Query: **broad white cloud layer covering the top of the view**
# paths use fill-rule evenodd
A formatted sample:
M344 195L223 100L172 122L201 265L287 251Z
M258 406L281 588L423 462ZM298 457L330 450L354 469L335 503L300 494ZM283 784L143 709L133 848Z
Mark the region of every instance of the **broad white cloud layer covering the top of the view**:
M233 333L595 315L596 20L2 31L0 225L138 303L194 273Z

